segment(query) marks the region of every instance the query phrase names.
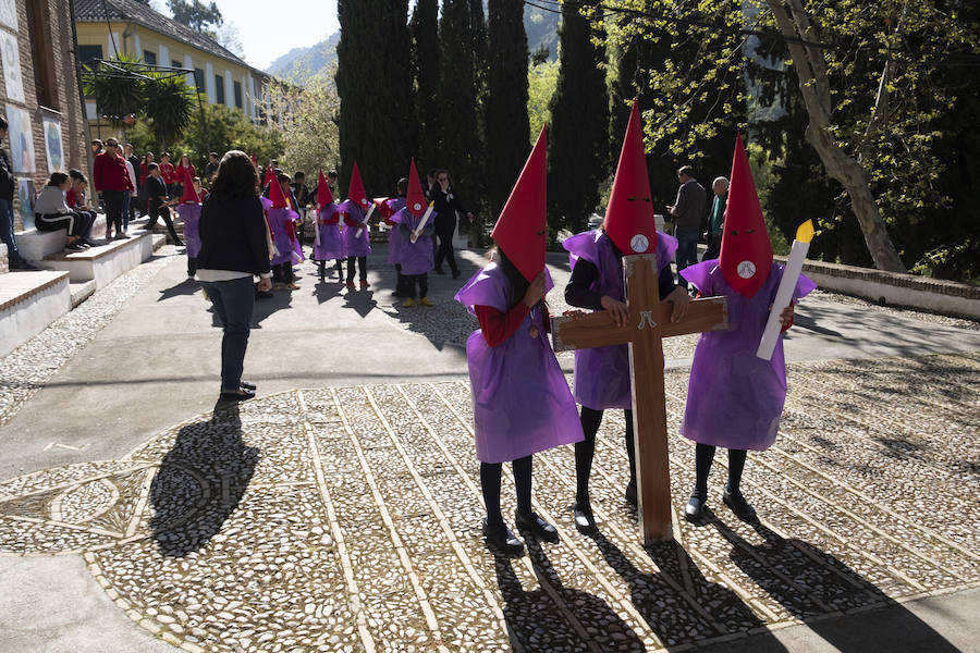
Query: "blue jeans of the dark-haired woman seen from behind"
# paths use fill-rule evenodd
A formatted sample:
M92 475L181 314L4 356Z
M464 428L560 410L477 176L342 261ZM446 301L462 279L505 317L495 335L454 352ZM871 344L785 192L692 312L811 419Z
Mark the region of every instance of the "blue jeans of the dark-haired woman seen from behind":
M255 284L252 276L231 281L205 281L201 284L224 325L221 338L221 392L238 392L245 348L252 330Z

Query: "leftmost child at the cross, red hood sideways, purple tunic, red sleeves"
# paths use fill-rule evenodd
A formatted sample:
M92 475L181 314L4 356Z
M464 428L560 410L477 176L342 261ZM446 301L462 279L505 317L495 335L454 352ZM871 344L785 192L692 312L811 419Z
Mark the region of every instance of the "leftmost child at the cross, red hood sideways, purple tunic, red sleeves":
M494 261L456 294L480 330L466 342L474 431L487 517L487 543L509 555L524 551L500 507L503 463L517 490L517 526L525 534L558 541L555 528L531 507L531 457L583 438L575 401L548 340L543 298L553 287L544 268L547 127L528 157L491 237Z

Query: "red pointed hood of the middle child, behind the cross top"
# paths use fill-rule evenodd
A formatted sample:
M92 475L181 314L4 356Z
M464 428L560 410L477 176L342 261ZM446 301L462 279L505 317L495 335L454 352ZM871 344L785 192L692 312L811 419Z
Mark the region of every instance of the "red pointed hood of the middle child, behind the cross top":
M657 221L644 152L644 125L636 100L633 100L602 229L624 255L657 251Z

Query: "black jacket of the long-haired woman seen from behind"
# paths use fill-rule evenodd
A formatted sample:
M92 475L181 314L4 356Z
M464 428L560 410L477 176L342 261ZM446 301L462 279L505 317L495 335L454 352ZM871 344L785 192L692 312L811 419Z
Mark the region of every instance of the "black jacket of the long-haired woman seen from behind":
M258 197L230 201L209 195L200 210L197 268L268 273L266 215Z

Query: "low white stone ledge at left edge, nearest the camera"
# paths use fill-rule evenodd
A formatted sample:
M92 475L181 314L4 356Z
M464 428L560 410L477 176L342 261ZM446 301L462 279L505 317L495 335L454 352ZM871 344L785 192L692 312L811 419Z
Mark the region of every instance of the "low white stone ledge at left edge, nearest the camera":
M0 276L0 356L24 344L72 309L65 271L10 272Z

